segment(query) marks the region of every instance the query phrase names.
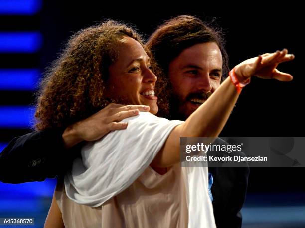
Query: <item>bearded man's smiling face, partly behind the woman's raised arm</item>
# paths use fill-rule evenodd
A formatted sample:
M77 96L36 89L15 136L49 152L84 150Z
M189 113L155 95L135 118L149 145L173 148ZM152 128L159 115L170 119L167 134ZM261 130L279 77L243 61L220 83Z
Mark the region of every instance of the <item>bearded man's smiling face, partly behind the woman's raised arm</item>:
M186 119L220 85L222 55L215 42L199 43L184 49L168 68L173 94L173 117Z

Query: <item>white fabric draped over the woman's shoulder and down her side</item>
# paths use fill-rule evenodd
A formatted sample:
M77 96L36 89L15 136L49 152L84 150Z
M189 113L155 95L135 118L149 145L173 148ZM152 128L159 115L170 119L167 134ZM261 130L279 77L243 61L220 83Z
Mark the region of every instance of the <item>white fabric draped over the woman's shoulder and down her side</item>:
M98 207L127 189L149 167L172 129L182 121L169 121L151 113L124 120L126 130L113 131L82 149L64 178L67 196L76 203ZM206 165L207 166L207 165ZM182 167L189 228L214 228L208 196L207 167Z

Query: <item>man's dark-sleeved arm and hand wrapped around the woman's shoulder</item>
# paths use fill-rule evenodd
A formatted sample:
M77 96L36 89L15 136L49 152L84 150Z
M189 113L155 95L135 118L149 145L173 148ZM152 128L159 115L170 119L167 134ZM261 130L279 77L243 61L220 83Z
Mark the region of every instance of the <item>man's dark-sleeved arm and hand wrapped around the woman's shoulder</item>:
M16 137L0 153L0 181L44 181L64 173L80 154L79 143L98 140L127 128L121 120L149 111L149 106L110 104L66 129L48 129Z

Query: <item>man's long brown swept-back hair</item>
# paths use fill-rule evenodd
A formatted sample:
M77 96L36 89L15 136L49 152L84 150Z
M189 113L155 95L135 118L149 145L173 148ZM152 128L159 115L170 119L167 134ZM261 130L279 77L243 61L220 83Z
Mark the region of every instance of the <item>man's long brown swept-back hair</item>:
M221 51L223 80L229 72L223 34L197 17L182 15L167 20L152 33L146 45L152 51L157 64L156 74L160 77L167 76L169 63L184 49L206 42L215 42Z

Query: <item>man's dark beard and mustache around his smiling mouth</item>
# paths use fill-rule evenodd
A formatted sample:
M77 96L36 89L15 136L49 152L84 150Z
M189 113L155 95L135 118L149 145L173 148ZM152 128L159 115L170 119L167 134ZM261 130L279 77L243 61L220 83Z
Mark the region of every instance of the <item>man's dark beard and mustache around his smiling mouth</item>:
M182 99L181 97L179 97L175 94L171 95L169 98L169 118L172 120L185 121L192 114L192 112L188 113L188 110L185 110L185 109L181 110L180 107L183 107L184 105L186 105L187 102L191 102L193 104L197 103L197 102L192 102L191 100L206 101L210 95L211 95L211 92L190 93L184 99ZM200 103L197 103L197 104L200 104ZM193 111L195 111L195 110L193 110Z

